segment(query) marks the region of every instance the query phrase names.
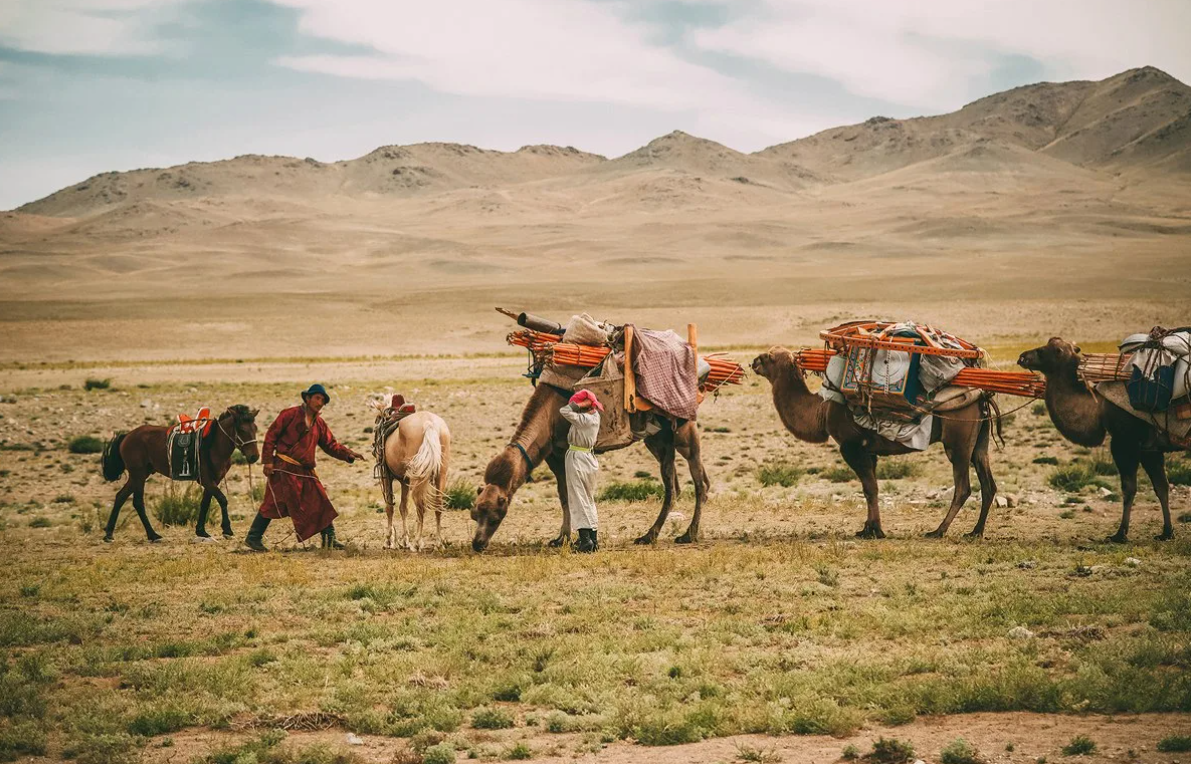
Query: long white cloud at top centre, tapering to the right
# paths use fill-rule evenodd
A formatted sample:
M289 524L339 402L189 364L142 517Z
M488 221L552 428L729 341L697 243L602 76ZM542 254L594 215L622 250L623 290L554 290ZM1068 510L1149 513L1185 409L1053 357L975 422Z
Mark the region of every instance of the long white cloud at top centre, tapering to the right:
M591 100L679 110L744 105L740 82L650 42L648 24L585 0L273 0L299 30L373 55L282 57L304 72L416 80L459 95Z

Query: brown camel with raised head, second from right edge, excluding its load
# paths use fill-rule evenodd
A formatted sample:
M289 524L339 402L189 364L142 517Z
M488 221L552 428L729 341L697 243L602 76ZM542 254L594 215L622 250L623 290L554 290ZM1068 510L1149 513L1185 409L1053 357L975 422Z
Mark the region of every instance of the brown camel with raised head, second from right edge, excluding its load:
M794 437L809 443L824 443L831 437L840 446L840 454L860 478L865 499L868 502L868 518L856 535L863 539L884 539L877 493L877 459L912 451L859 427L848 406L824 400L811 392L806 386L805 372L798 366L791 350L782 347L771 348L753 360L753 371L769 380L778 416ZM989 509L997 495L997 483L992 479L992 465L989 460L993 421L997 422L998 435L1000 431L1000 417L999 414L993 414L994 411L994 405L990 400L980 398L966 406L948 411L946 416L940 415L934 418L930 442L943 443L947 458L952 462L955 491L952 493L952 505L943 521L925 534L927 536L937 539L947 533L955 515L972 495L969 466L975 467L975 474L980 480L980 517L967 535L984 535Z

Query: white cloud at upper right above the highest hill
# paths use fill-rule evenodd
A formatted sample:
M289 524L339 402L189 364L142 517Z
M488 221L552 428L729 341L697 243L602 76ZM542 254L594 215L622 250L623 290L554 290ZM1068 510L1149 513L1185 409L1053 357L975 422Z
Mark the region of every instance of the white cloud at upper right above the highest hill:
M1102 79L1153 64L1191 75L1191 4L1153 0L837 2L768 0L761 12L692 30L697 49L838 81L856 95L952 110L1002 86L1006 57L1054 79Z

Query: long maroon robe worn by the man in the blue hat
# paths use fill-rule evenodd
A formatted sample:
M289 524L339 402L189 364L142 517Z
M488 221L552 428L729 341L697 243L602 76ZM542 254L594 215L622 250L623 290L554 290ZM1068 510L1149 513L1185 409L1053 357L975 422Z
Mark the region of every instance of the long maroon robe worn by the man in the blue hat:
M351 452L331 435L331 428L323 417L316 416L313 427L306 427L304 406L294 406L279 414L264 434L264 448L261 449L261 464L273 465L273 477L264 489L261 514L270 520L292 518L299 541L325 530L338 516L326 496L326 489L314 474L316 446L335 459L348 464L355 461ZM282 454L298 464L281 459Z

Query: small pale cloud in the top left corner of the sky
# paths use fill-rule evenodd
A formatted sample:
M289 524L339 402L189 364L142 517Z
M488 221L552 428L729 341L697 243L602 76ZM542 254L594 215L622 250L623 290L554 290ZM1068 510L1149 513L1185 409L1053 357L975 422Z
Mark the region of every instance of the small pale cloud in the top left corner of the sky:
M4 0L0 45L52 55L149 56L164 12L185 0Z

